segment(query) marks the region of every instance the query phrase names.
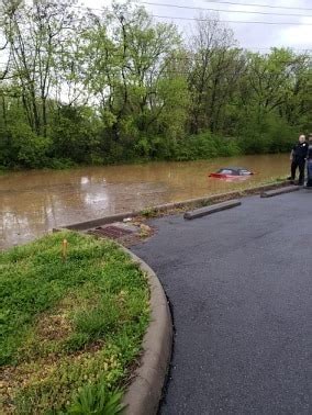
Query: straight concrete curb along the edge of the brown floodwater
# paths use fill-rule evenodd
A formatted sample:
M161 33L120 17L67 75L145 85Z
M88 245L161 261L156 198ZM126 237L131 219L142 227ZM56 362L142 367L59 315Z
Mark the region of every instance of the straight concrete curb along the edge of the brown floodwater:
M258 187L250 188L250 189L214 194L214 195L211 195L211 197L188 199L188 200L185 200L185 201L181 201L181 202L159 204L159 205L156 205L156 206L148 208L148 210L151 210L152 213L154 212L155 214L157 214L157 213L161 213L161 212L165 213L165 212L168 212L168 211L174 210L174 209L198 208L199 205L210 204L210 203L230 200L230 199L237 199L237 198L242 198L242 197L248 195L248 194L261 193L266 190L282 188L287 184L289 184L289 181L282 181L282 182L278 182L278 183L271 183L271 184L264 184L264 186L258 186ZM87 231L87 229L90 229L92 227L97 227L97 226L105 225L105 224L109 224L109 223L122 221L125 217L135 217L135 216L140 216L140 215L142 215L142 211L124 212L124 213L119 213L119 214L115 214L115 215L99 217L99 218L91 220L91 221L74 223L74 224L70 224L70 225L60 226L58 228L74 229L74 231Z

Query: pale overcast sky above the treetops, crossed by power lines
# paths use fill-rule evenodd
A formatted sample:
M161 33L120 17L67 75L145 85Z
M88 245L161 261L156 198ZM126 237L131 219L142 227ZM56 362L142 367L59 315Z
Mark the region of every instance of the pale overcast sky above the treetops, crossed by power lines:
M142 0L143 1L143 0ZM248 24L248 23L226 23L234 31L236 40L242 47L259 49L265 52L266 48L272 46L286 46L298 49L311 49L312 53L312 0L227 0L237 4L224 4L218 1L207 0L146 0L158 4L176 4L202 9L219 9L224 10L220 12L205 11L207 13L218 13L222 21L239 21L239 22L278 22L276 25L268 24ZM90 8L102 8L111 3L110 0L83 0L80 1L83 5ZM140 3L140 1L137 1ZM303 8L305 10L292 10L282 8L261 8L259 5L241 5L248 4L266 4L270 7L287 7L287 8ZM163 16L180 16L180 18L196 18L201 12L200 10L169 8L165 5L147 5L144 7L152 13ZM310 9L310 10L307 10ZM297 15L272 15L272 14L254 14L242 13L247 12L263 12L263 13L278 13L278 14L297 14ZM202 10L204 12L204 10ZM298 16L298 14L300 14ZM170 21L170 19L155 18L159 21ZM192 21L172 20L180 31L187 37L191 33ZM310 25L296 25L282 23L304 23Z

